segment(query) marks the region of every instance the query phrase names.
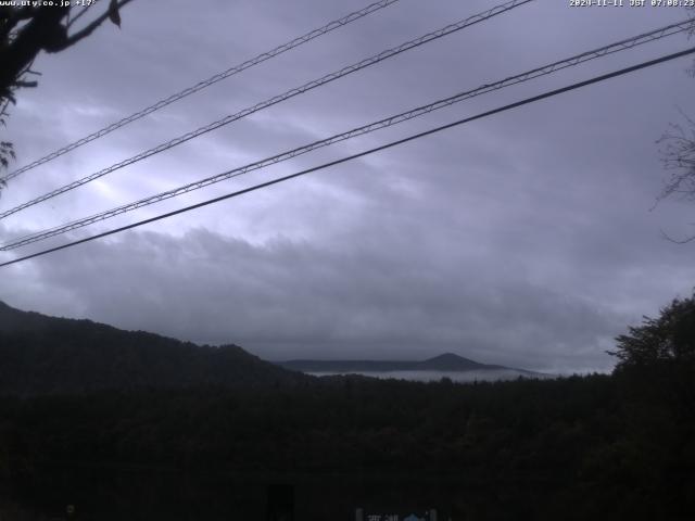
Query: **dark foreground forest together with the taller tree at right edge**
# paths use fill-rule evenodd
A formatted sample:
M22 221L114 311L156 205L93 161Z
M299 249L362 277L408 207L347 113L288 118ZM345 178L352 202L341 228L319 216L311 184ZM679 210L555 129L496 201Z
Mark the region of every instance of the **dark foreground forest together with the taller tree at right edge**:
M351 519L350 505L387 488L452 519L695 519L694 333L695 304L674 302L618 339L611 376L8 394L3 497L37 511L78 497L91 505L81 519L216 520L231 519L214 510L225 497L251 501L244 486L280 480L314 491L296 519ZM94 488L105 475L121 480L106 495ZM161 485L180 475L208 482ZM161 518L135 507L136 488L160 499ZM193 490L194 513L165 512Z

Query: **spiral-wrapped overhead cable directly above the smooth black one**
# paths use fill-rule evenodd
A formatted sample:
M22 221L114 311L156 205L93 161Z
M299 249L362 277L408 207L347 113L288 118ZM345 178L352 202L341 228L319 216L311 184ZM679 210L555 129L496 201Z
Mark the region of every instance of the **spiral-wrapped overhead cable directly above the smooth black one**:
M254 162L254 163L250 163L247 164L244 166L238 167L238 168L233 168L231 170L227 170L220 174L217 174L215 176L211 176L207 177L205 179L201 179L199 181L194 181L188 185L184 185L181 187L165 191L165 192L161 192L157 193L155 195L150 195L148 198L143 198L140 199L138 201L131 202L131 203L127 203L121 206L116 206L115 208L111 208L109 211L99 213L99 214L94 214L88 217L83 217L80 219L77 220L73 220L71 223L66 223L63 225L60 225L58 227L54 228L50 228L48 230L43 230L40 231L38 233L29 233L23 237L18 237L13 239L11 242L7 242L4 244L0 245L0 251L9 251L9 250L14 250L16 247L26 245L26 244L30 244L34 242L38 242L45 239L49 239L51 237L55 237L62 233L65 233L67 231L72 231L78 228L83 228L85 226L101 221L101 220L105 220L112 217L116 217L118 215L125 214L127 212L131 212L144 206L149 206L150 204L154 204L154 203L159 203L161 201L165 201L167 199L172 199L175 198L177 195L181 195L184 193L188 193L191 192L193 190L198 190L204 187L207 187L210 185L214 185L216 182L220 182L233 177L238 177L244 174L248 174L250 171L254 171L261 168L265 168L267 166L283 162L283 161L288 161L291 160L293 157L296 157L299 155L303 155L305 153L312 152L314 150L317 150L319 148L324 148L324 147L328 147L330 144L340 142L340 141L345 141L352 138L355 138L357 136L363 136L365 134L369 134L376 130L380 130L382 128L387 128L403 122L407 122L409 119L422 116L425 114L428 114L430 112L437 111L439 109L443 109L450 105L453 105L455 103L459 103L462 101L475 98L477 96L481 96L488 92L492 92L505 87L509 87L511 85L516 85L516 84L520 84L523 81L528 81L530 79L534 79L541 76L545 76L552 73L555 73L557 71L561 71L564 68L567 67L571 67L571 66L576 66L579 65L581 63L587 62L590 60L594 60L596 58L602 58L605 56L607 54L611 54L611 53L616 53L616 52L620 52L623 51L626 49L631 49L634 48L636 46L643 45L643 43L647 43L650 41L655 41L657 39L667 37L667 36L671 36L678 33L682 33L685 30L690 30L692 26L692 23L690 21L683 21L677 24L671 24L671 25L667 25L665 27L652 30L649 33L644 33L637 36L634 36L632 38L628 38L628 39L623 39L614 43L610 43L608 46L604 46L601 47L598 49L594 49L592 51L586 51L586 52L582 52L580 54L576 54L573 56L567 58L565 60L560 60L560 61L556 61L553 62L551 64L541 66L541 67L536 67L533 68L531 71L528 71L526 73L522 74L518 74L515 76L510 76L507 77L503 80L500 81L495 81L492 84L485 84L481 87L478 87L476 89L472 90L468 90L465 92L460 92L457 93L455 96L452 96L450 98L445 98L442 100L438 100L433 103L429 103L427 105L422 105L416 109L413 109L410 111L407 112L403 112L383 119L380 119L378 122L374 122L370 123L368 125L364 125L362 127L357 127L357 128L353 128L352 130L342 132L342 134L338 134L334 136L331 136L329 138L326 139L321 139L319 141L314 141L312 143L305 144L303 147L299 147L296 149L292 149L286 152L282 152L280 154L276 154L274 156L270 157L266 157L264 160Z

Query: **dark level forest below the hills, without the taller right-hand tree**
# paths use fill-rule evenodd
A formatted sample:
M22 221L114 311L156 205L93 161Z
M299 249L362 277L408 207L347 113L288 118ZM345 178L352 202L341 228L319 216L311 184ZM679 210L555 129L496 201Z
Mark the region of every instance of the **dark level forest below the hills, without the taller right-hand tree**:
M645 418L635 405L608 376L476 385L341 377L257 390L4 397L0 474L34 498L65 487L50 476L70 468L362 476L377 488L437 480L456 520L688 519L681 514L695 511L693 442L667 411ZM116 519L103 514L93 519Z

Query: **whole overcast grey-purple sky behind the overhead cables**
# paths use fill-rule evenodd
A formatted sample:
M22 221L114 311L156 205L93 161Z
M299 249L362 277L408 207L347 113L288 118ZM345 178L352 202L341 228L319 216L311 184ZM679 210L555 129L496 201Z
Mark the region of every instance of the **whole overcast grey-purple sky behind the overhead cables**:
M137 0L42 55L7 136L15 166L366 5ZM394 5L11 181L5 209L496 2ZM629 3L626 0L626 3ZM0 221L38 231L666 25L675 8L538 0ZM692 45L684 35L485 94L389 130L46 243L132 223ZM268 359L408 358L609 370L612 339L695 285L695 204L655 198L655 141L695 115L692 59L481 119L137 230L1 268L0 300Z

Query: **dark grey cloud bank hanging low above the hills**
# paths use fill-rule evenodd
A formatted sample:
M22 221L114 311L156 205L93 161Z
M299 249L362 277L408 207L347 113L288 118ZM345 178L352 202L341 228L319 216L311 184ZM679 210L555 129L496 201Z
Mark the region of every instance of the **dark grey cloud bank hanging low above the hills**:
M298 348L331 357L455 350L546 369L570 354L605 364L602 340L619 320L594 303L519 281L505 259L432 255L444 238L425 230L375 228L320 247L283 238L253 245L202 229L182 239L132 233L61 263L39 260L34 276L47 307L67 315L238 342L269 358ZM33 300L21 284L9 295Z

